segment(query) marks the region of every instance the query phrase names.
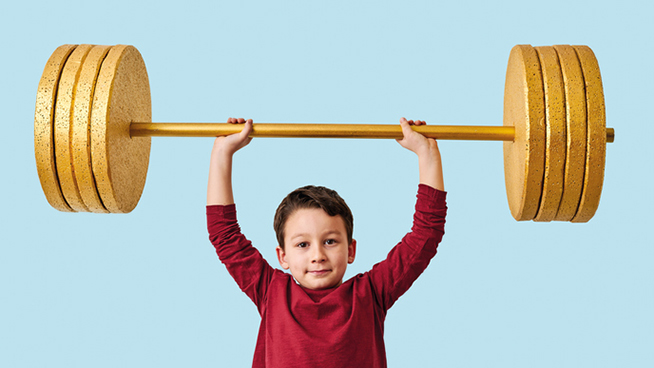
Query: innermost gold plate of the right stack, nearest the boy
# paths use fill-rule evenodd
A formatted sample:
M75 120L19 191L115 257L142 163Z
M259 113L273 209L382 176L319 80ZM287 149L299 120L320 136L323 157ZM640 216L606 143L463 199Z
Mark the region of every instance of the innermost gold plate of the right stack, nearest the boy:
M515 127L504 142L504 177L511 214L518 221L536 216L545 166L543 77L536 50L511 49L504 87L504 125Z

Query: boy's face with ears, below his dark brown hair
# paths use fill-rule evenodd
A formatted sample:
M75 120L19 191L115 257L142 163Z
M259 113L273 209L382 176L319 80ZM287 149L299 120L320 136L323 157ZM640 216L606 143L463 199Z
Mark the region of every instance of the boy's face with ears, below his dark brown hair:
M293 212L284 227L285 250L277 247L279 264L305 288L329 289L343 282L354 262L356 241L347 241L341 216L329 216L320 208Z

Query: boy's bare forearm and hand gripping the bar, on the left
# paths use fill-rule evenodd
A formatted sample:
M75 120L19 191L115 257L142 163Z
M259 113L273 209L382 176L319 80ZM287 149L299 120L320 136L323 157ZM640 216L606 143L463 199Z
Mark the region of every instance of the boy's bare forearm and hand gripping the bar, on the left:
M234 203L232 191L232 158L234 153L245 147L252 138L252 119L229 118L228 123L243 124L240 133L225 137L218 137L211 150L211 163L209 166L209 184L207 186L207 205L228 205Z

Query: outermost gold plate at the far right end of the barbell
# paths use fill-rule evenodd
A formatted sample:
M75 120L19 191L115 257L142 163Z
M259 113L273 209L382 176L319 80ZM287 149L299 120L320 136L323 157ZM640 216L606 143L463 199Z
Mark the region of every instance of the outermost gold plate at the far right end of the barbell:
M587 222L595 215L602 194L606 159L606 112L602 76L595 54L588 46L573 47L579 57L586 86L588 132L584 187L572 222Z

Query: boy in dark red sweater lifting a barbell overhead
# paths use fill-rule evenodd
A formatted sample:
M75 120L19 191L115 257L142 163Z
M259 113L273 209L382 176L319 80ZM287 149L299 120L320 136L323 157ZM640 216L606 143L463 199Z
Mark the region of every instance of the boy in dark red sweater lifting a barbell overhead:
M273 269L241 234L232 193L232 156L247 145L252 120L240 133L218 137L207 191L209 236L220 260L261 315L253 367L386 367L386 311L436 254L445 225L445 192L435 140L400 124L400 145L418 155L420 184L413 228L372 270L346 282L354 262L352 214L336 192L308 186L289 194L275 214Z

